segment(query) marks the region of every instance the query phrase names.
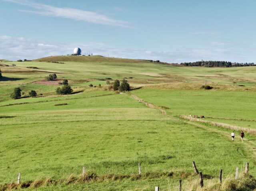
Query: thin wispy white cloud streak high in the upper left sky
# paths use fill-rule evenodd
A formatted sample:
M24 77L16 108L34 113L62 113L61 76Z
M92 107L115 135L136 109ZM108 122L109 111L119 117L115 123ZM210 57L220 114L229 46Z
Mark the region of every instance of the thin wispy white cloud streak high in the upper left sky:
M24 5L24 6L29 6L36 9L36 10L20 10L22 12L30 12L33 14L40 14L44 16L62 17L62 18L80 20L80 21L95 23L95 24L131 28L131 26L129 26L129 23L126 21L112 19L112 18L109 18L108 16L99 14L97 12L85 11L85 10L74 9L74 8L55 7L55 6L50 6L46 4L34 3L28 0L3 0L3 1L12 2L12 3Z

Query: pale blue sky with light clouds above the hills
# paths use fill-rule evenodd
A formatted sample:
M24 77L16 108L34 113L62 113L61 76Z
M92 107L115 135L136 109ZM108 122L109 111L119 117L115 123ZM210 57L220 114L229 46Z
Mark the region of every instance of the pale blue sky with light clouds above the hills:
M0 0L0 59L78 46L170 63L255 62L255 7L255 0Z

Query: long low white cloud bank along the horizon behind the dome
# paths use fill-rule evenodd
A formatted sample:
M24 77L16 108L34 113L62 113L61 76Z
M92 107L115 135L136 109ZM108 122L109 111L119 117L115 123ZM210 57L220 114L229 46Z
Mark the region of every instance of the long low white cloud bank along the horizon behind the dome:
M132 50L116 48L101 43L65 44L43 42L26 38L0 36L0 59L36 59L46 56L72 54L75 47L80 47L83 54L110 56L115 58L131 58L160 60L168 63L193 62L198 60L225 60L231 62L254 62L241 56L239 52L224 48L187 49L180 48L170 52L152 50Z

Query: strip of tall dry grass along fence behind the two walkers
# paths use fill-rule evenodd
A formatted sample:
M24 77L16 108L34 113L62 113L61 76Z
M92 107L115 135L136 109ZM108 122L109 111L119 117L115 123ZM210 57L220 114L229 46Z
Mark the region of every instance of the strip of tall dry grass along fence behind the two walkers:
M181 117L183 119L187 119L189 121L197 121L197 122L205 123L207 125L213 125L215 127L224 127L226 129L235 130L235 131L246 131L247 133L250 133L251 135L256 135L256 130L246 128L246 127L239 127L239 126L229 125L226 123L219 123L219 122L215 122L215 121L206 121L206 120L190 117L188 115L179 115L179 117Z

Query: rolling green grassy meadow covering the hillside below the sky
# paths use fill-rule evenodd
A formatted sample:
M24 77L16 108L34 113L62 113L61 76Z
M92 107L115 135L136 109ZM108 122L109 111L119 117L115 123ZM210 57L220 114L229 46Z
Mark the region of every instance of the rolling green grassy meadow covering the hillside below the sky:
M236 130L232 142L232 129L180 117L204 115L256 129L254 66L182 67L102 56L1 63L0 191L174 191L180 179L182 190L256 190L255 135L245 132L242 142ZM48 82L49 74L58 77ZM123 78L130 92L108 90L107 80ZM74 92L60 96L55 90L64 79ZM201 89L205 84L213 88ZM18 87L22 97L11 99ZM29 97L30 90L38 96ZM251 176L243 173L247 162Z

